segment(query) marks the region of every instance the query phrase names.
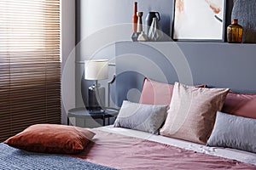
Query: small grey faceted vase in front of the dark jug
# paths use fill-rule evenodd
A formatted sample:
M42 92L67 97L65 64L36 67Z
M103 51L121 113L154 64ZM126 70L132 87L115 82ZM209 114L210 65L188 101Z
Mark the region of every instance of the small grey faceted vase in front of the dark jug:
M153 18L148 31L148 39L151 41L160 41L161 37L163 37L163 31L160 29L159 20L157 18Z

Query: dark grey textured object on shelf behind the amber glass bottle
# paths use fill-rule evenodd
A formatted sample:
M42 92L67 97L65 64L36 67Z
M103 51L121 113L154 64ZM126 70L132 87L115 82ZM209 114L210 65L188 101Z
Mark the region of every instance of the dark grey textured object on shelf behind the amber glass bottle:
M234 0L234 7L231 18L239 19L243 27L242 42L256 42L256 1L255 0Z

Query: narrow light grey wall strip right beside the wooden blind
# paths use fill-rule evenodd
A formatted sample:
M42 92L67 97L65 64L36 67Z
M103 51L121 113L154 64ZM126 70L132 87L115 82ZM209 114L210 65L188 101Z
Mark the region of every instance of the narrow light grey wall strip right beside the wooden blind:
M61 1L61 122L75 106L75 1Z

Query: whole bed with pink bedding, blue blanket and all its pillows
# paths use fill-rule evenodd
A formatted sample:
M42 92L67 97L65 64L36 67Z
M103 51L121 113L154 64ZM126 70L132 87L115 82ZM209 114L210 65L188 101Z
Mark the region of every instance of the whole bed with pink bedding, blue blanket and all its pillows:
M139 103L124 100L112 126L33 125L0 144L0 168L256 169L255 99L146 78Z

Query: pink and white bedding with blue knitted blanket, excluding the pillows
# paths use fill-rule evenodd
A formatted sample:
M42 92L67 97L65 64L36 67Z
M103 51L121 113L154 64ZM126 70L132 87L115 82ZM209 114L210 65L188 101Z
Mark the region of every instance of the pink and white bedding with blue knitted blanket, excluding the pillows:
M98 127L76 155L45 154L0 144L0 169L256 169L255 154L121 127Z

